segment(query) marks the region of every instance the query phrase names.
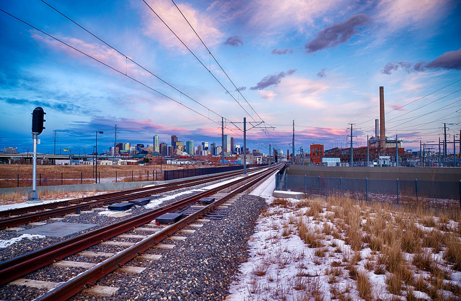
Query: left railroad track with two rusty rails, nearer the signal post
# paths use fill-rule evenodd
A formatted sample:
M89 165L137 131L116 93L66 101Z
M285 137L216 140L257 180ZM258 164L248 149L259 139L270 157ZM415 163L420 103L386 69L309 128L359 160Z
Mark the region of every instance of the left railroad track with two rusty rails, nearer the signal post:
M266 167L258 167L250 171L257 171ZM30 222L37 222L47 218L56 218L65 214L78 213L81 210L89 210L91 208L104 206L115 202L130 201L139 199L144 196L159 194L166 191L171 191L180 188L186 188L189 186L196 186L203 183L207 183L212 179L213 181L219 181L228 177L242 174L242 171L236 171L226 173L219 176L202 177L199 179L184 180L175 183L164 183L156 185L155 187L138 188L124 190L122 192L112 192L102 195L95 195L84 198L77 198L68 201L54 202L49 204L41 204L37 206L30 206L25 208L17 208L0 212L3 216L10 216L7 218L0 219L0 230L8 227L15 227L21 224L27 224ZM31 212L35 211L35 212ZM31 213L26 213L31 212ZM16 214L26 213L17 216ZM12 216L11 216L12 215Z

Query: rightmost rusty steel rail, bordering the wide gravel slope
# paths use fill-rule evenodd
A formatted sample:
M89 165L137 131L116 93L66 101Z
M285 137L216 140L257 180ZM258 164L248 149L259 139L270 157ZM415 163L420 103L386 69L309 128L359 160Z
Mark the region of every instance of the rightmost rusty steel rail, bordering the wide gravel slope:
M124 251L121 251L118 254L112 256L111 258L100 262L99 264L90 268L89 270L84 271L77 277L74 277L71 280L62 283L61 285L47 292L45 295L42 295L34 299L34 301L64 301L68 298L71 298L73 295L77 294L81 289L83 289L87 284L95 283L100 278L116 270L120 265L124 265L128 261L135 258L138 254L146 251L148 248L151 248L154 243L161 242L166 237L171 236L178 229L181 229L187 224L190 224L196 218L199 218L200 216L207 214L207 212L212 210L213 207L218 206L220 203L231 198L240 191L248 189L249 187L253 186L255 183L258 183L261 179L266 177L268 174L271 174L272 172L274 172L274 168L270 169L269 171L263 172L262 175L258 176L249 183L246 183L241 187L233 189L226 196L220 198L217 201L214 201L212 204L207 205L204 208L201 208L197 212L189 215L186 218L183 218L177 223L172 224L164 228L163 230L160 230L155 234L148 236L147 238L143 239L140 242L137 242L130 248L127 248Z

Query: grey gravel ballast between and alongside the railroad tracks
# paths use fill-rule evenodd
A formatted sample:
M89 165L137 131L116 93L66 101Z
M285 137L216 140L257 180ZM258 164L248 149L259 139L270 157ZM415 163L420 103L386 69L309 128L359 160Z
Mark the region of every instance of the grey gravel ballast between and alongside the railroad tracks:
M182 190L182 189L181 189ZM184 189L188 190L188 189ZM177 193L175 191L173 194ZM163 194L166 196L168 194ZM184 198L184 195L178 197ZM171 203L176 199L165 201L162 205ZM150 248L145 253L161 254L160 260L131 260L126 266L146 267L140 274L111 273L95 284L103 286L118 287L118 293L111 297L91 296L79 293L70 300L223 300L228 295L229 285L236 280L239 265L248 258L248 239L254 232L254 221L258 218L260 209L266 206L264 198L254 195L243 195L231 207L232 211L222 220L210 220L201 228L186 227L185 229L196 230L193 234L181 234L186 236L185 241L165 240L163 244L174 244L171 250ZM133 215L144 212L145 209L137 207L133 209ZM100 224L100 226L118 221L120 218L108 218L106 223L103 215L95 213L82 213L85 215L85 223ZM128 216L131 217L132 215ZM80 217L68 217L65 222L82 222ZM95 229L95 228L93 228ZM5 231L2 231L5 232ZM3 234L3 233L2 233ZM135 234L127 232L127 234ZM138 235L145 235L137 232ZM150 235L152 233L146 233ZM10 235L8 235L10 236ZM68 238L67 236L65 238ZM5 238L1 238L5 239ZM43 240L50 238L35 238L34 240L23 239L16 243L16 248L29 247L34 244L37 248L45 244ZM54 240L51 239L51 240ZM137 239L121 240L136 242ZM47 244L47 243L46 243ZM33 248L31 247L31 248ZM11 248L11 247L8 247ZM112 246L94 246L89 251L95 252L117 252L123 248ZM4 250L5 256L6 250ZM17 255L17 254L16 254ZM63 260L82 262L100 262L104 257L90 258L74 254ZM2 258L2 260L5 260ZM49 266L48 266L49 267ZM47 267L47 268L48 268ZM24 278L43 281L63 281L62 278L75 276L83 271L77 269L62 269L61 273L57 267L50 268L49 272L30 273ZM43 290L42 290L43 291ZM36 297L39 289L18 287L16 285L3 285L0 287L0 299L30 300ZM16 294L16 295L15 295ZM38 294L41 295L41 294ZM24 299L21 299L22 296Z

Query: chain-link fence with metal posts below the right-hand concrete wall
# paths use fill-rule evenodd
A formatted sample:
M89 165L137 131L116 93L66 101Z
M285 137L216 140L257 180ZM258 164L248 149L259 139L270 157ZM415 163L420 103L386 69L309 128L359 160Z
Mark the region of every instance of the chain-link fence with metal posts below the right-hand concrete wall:
M390 204L460 209L461 181L276 175L276 189Z

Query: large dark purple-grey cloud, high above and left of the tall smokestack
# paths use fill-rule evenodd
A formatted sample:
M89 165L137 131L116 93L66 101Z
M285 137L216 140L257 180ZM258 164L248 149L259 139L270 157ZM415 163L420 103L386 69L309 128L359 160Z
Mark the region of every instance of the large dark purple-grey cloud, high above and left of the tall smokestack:
M362 13L351 16L342 23L335 23L328 26L320 30L312 41L304 45L306 52L315 53L322 49L328 49L346 43L352 35L360 32L355 29L356 27L365 26L369 24L371 20L370 17Z

